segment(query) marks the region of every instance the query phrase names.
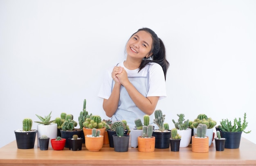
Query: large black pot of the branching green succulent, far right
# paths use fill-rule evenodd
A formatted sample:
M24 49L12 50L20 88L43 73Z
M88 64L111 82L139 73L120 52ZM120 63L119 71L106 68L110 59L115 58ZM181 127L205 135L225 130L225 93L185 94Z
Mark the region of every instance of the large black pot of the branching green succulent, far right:
M238 149L240 146L242 132L243 131L240 131L240 132L220 131L222 137L226 138L225 148Z

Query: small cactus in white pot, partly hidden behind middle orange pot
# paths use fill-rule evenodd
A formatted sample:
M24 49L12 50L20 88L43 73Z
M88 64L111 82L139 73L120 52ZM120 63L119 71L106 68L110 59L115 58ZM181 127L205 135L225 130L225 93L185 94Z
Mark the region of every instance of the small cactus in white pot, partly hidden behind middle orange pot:
M138 146L138 137L142 135L142 129L143 129L143 124L141 122L141 119L135 119L135 128L131 130L130 135L131 135L131 147L132 148L137 148Z

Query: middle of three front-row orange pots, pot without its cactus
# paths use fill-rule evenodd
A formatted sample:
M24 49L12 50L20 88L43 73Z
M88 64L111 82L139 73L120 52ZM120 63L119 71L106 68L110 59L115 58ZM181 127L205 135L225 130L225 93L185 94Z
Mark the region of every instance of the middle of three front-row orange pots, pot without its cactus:
M138 137L138 151L140 152L153 152L155 151L155 137L142 138Z

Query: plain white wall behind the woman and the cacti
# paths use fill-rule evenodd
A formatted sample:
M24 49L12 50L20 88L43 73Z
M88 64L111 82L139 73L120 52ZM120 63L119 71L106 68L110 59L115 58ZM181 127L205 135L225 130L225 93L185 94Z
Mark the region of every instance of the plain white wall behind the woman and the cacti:
M157 109L217 122L247 112L243 137L256 143L255 0L0 0L0 147L23 118L107 118L97 97L105 69L122 61L141 27L162 38L168 97ZM33 127L36 129L36 123Z

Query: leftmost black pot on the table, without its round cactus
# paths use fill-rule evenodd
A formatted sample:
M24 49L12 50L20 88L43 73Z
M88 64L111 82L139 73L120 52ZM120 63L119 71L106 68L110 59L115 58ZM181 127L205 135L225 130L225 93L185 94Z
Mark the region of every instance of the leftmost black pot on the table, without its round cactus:
M36 140L37 130L28 132L14 131L18 149L33 149Z

